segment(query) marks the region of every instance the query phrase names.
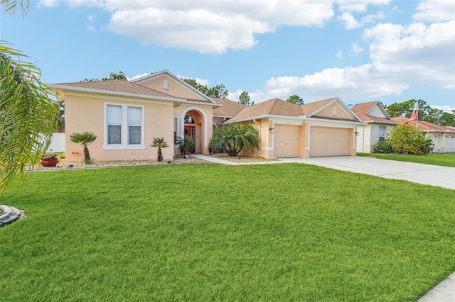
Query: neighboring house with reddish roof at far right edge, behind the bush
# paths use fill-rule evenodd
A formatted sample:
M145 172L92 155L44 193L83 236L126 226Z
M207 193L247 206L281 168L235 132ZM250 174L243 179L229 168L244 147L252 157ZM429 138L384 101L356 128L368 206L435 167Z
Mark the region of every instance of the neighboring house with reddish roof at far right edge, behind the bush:
M409 118L399 116L397 118L392 118L392 120L396 123L404 124ZM415 127L416 123L411 121L408 125L413 125ZM433 152L455 152L455 128L436 125L425 121L419 121L417 127L432 138L434 144Z

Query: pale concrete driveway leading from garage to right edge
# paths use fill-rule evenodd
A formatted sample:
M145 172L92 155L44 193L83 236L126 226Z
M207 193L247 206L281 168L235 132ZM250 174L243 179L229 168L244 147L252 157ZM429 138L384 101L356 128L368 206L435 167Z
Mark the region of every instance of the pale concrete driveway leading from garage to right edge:
M280 158L279 160L281 162L314 164L316 166L390 179L404 179L418 184L429 184L455 190L455 168L451 167L379 160L378 158L360 156Z

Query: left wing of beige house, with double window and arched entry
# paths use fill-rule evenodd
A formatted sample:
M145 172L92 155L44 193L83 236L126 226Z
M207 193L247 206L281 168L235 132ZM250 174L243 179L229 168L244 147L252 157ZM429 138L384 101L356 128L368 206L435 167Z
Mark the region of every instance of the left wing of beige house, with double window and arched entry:
M79 160L78 144L71 133L92 131L98 138L90 145L95 160L151 160L156 137L173 145L183 133L196 140L196 152L208 154L213 130L213 108L220 106L167 70L127 80L75 82L49 85L65 101L65 157ZM167 147L163 157L180 154Z

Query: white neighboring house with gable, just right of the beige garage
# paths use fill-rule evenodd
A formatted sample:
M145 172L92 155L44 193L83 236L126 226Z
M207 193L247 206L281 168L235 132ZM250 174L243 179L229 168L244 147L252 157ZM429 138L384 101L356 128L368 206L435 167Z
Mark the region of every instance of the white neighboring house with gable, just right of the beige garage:
M357 104L353 106L352 111L366 123L357 126L357 152L375 152L376 144L385 140L387 133L397 125L379 101Z

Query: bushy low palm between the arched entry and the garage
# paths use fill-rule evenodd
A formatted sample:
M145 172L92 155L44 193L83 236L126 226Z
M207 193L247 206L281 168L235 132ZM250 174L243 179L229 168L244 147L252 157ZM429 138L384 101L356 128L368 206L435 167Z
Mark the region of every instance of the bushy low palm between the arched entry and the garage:
M235 123L213 132L212 140L222 143L229 156L237 156L243 148L254 150L259 147L259 133L251 123Z

